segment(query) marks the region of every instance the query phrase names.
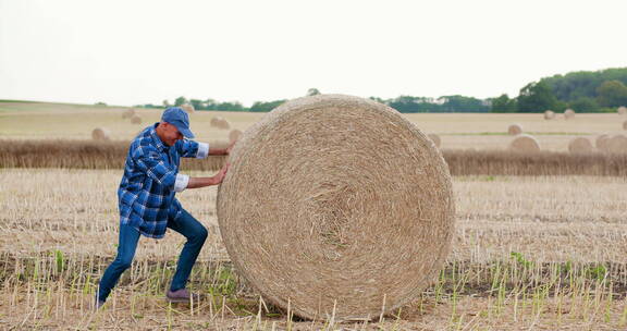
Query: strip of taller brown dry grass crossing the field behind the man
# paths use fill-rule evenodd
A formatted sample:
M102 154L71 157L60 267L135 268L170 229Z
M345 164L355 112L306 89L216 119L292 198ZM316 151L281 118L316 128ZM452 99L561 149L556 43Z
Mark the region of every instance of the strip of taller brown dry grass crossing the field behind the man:
M0 168L122 169L128 142L0 140ZM226 142L211 143L225 146ZM442 150L453 175L627 175L627 155ZM183 170L218 170L224 157L182 159Z

